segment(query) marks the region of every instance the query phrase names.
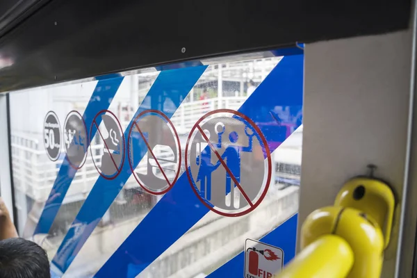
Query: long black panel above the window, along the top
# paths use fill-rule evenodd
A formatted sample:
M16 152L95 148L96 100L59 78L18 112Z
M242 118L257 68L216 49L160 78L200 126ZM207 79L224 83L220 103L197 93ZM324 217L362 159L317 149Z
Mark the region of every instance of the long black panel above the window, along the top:
M53 0L0 38L0 91L397 31L410 9L411 0Z

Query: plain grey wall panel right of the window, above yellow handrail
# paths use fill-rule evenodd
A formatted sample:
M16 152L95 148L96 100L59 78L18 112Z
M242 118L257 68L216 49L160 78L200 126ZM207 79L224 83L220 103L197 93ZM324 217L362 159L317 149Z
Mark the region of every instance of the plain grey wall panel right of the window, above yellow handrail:
M311 211L332 205L343 183L365 174L368 163L401 199L411 31L306 44L304 59L299 231ZM382 277L394 277L399 208Z

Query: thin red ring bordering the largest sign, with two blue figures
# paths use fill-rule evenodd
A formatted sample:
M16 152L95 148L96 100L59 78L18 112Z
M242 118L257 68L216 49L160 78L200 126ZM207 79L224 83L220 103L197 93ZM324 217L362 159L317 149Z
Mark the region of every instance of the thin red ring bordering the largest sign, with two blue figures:
M261 138L261 140L263 142L263 146L265 148L265 154L266 154L266 157L268 159L268 176L266 178L265 188L263 188L263 192L261 193L261 196L255 202L255 204L253 204L252 206L249 206L249 208L245 209L244 211L240 211L239 213L226 213L226 212L223 212L223 211L219 211L218 209L209 205L211 203L206 201L205 199L203 199L199 195L199 193L197 192L197 188L195 188L195 186L193 185L193 176L191 175L191 172L190 172L189 167L188 167L188 145L190 144L190 140L193 137L193 133L194 133L195 129L197 128L197 126L199 126L199 124L204 119L206 119L206 117L211 116L213 114L217 114L217 113L231 113L231 114L234 114L238 117L241 117L243 120L247 121L254 128L254 130L258 133L259 138ZM259 127L254 123L254 121L250 120L250 118L247 117L246 115L244 115L243 113L240 113L238 111L234 111L234 110L231 110L231 109L218 109L218 110L215 110L215 111L210 111L210 112L206 113L206 115L203 115L201 118L199 118L199 120L193 126L193 129L191 129L191 131L190 131L190 135L187 138L186 152L185 152L184 156L185 156L185 159L186 159L187 177L188 177L188 181L190 181L191 188L193 189L193 191L194 191L195 195L198 197L198 199L200 201L202 201L204 206L206 206L208 209L210 209L211 211L213 211L215 213L218 213L222 216L227 216L227 217L238 217L238 216L245 215L245 214L250 213L251 211L253 211L257 206L259 206L259 204L261 204L261 202L265 198L266 193L268 193L268 188L269 188L270 181L271 181L271 176L272 176L272 159L271 159L270 149L268 147L268 142L266 141L265 136L263 136L263 133L262 133L261 129L259 129Z

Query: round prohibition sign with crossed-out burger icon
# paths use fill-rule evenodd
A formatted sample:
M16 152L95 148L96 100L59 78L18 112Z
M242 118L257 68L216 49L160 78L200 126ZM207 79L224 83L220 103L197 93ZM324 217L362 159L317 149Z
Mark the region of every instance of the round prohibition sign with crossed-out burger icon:
M153 195L167 193L181 170L181 145L170 118L161 111L143 111L134 119L128 140L129 165L138 184ZM143 158L133 168L136 157Z

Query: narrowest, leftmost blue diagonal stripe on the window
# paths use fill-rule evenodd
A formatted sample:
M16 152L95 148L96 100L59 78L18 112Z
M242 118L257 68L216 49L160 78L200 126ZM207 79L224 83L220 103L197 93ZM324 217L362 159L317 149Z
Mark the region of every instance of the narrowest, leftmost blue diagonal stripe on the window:
M97 82L87 108L85 108L84 111L83 119L86 126L90 127L95 115L99 113L99 111L107 109L108 106L110 106L123 78L123 76L117 76L111 79L100 79ZM101 122L101 117L98 121ZM97 124L99 124L99 122ZM90 145L92 137L94 137L94 134L88 135L88 145ZM85 149L88 149L88 145ZM52 223L58 214L59 208L61 204L63 204L68 188L70 188L71 182L75 177L76 171L77 170L74 169L74 167L70 166L67 156L65 156L33 234L47 234L49 232L49 229L51 229Z

